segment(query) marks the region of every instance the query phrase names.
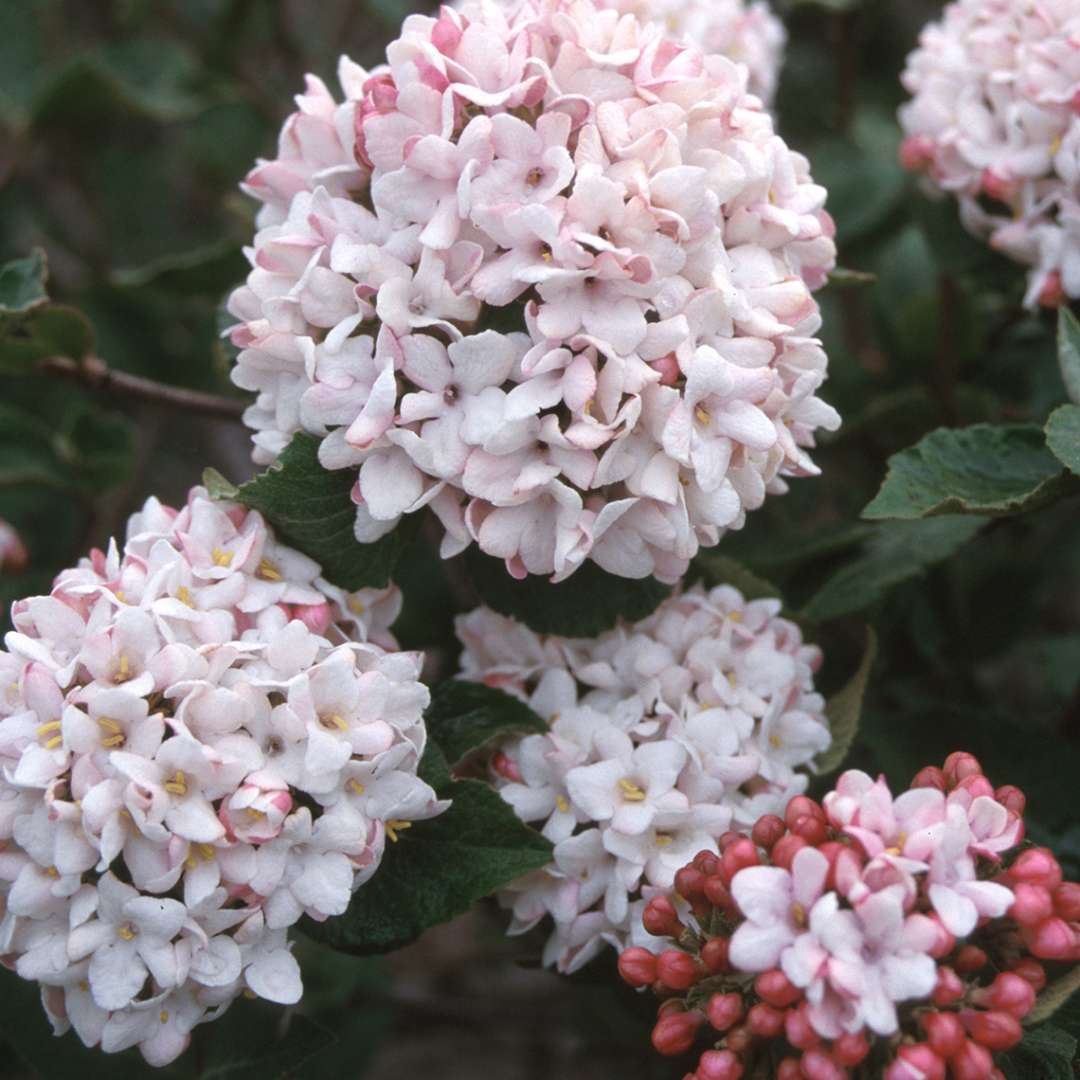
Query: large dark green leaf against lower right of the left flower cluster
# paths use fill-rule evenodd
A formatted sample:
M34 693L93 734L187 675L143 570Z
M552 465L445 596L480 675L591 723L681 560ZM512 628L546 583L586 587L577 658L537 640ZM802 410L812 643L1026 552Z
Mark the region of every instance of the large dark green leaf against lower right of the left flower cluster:
M551 843L487 784L459 780L441 794L454 800L449 810L388 843L349 910L308 923L309 934L347 951L388 953L551 861Z

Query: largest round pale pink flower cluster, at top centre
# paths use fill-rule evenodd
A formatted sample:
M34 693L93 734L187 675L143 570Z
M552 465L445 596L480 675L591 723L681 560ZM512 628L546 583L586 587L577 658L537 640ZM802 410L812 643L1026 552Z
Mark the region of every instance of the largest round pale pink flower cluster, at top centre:
M592 0L409 16L309 80L246 190L231 297L256 460L359 467L356 537L429 507L517 578L675 581L836 413L825 191L746 68Z

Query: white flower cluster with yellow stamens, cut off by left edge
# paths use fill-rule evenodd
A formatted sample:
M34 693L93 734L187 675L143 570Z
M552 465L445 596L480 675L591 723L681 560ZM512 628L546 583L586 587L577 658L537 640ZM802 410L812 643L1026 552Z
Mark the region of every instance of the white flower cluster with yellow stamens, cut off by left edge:
M14 605L0 953L57 1034L163 1065L241 993L299 999L287 928L343 913L443 809L416 775L420 657L352 639L386 640L396 603L197 488Z

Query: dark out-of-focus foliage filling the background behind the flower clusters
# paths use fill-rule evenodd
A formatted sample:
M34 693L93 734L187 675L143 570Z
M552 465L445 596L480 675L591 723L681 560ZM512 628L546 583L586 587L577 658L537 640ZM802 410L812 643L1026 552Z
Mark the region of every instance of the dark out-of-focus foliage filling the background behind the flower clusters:
M723 555L782 586L825 647L826 690L854 670L865 625L877 627L853 764L900 784L964 746L996 782L1026 789L1032 834L1076 872L1077 499L993 521L860 521L887 458L927 432L1042 423L1065 400L1053 320L1025 313L1022 272L968 238L953 205L927 200L896 164L899 72L941 4L777 6L789 35L780 129L829 188L841 265L877 282L822 295L826 396L845 418L816 456L823 476L752 515ZM408 10L402 0L4 0L0 265L43 248L50 295L84 313L111 367L230 394L219 312L245 272L254 219L238 181L272 152L303 73L333 85L339 53L377 63ZM0 573L4 607L48 590L150 492L181 500L205 465L234 481L252 472L239 424L54 376L0 374L0 518L31 553L25 572ZM418 542L397 578L413 597L401 636L445 663L454 610L445 568ZM650 1055L644 1020L632 1022L640 1003L603 964L571 987L529 967L535 946L505 942L494 910L378 963L305 945L308 994L285 1017L283 1042L271 1041L281 1016L244 1002L202 1029L168 1072L674 1075ZM12 1007L0 1029L14 1051L5 1075L148 1071L130 1055L84 1056L72 1036L45 1043L33 989L16 982L4 982ZM316 1025L340 1041L294 1067L320 1043Z

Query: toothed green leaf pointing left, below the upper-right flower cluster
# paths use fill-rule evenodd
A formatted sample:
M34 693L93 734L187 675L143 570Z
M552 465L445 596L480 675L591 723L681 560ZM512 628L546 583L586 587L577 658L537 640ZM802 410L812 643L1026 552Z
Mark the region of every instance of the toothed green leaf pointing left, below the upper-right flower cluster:
M881 490L863 517L1016 514L1052 501L1066 486L1036 424L940 428L889 459Z

